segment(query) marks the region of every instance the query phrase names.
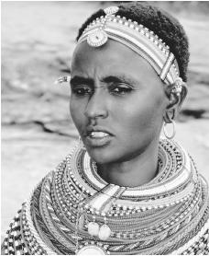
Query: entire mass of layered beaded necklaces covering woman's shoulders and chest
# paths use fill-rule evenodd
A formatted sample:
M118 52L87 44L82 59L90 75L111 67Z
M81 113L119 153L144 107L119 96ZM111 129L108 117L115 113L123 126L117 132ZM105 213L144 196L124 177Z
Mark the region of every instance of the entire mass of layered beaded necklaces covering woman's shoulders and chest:
M5 253L185 254L200 241L205 252L208 202L207 183L173 141L160 140L157 176L135 188L106 183L78 145L23 204Z

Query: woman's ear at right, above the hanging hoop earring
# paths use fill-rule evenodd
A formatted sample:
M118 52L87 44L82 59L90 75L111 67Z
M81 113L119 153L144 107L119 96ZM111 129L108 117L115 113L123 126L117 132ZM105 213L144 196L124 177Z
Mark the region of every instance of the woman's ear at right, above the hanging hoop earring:
M173 90L173 88L173 85L165 88L165 93L169 99L169 102L163 115L163 119L167 123L176 119L181 109L181 104L187 95L187 86L185 83L181 84L181 92L176 92Z

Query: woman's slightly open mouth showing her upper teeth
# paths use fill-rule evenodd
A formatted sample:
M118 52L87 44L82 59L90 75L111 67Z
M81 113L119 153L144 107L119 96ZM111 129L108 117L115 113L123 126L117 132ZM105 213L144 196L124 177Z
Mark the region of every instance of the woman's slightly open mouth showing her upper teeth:
M113 134L110 134L107 131L91 129L86 134L86 144L89 146L104 146L108 145L111 142Z

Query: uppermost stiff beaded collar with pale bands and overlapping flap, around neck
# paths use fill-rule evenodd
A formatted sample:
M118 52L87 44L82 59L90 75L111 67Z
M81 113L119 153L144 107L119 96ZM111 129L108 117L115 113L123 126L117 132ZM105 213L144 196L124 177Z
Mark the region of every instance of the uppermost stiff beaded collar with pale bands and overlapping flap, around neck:
M135 188L106 183L97 174L87 152L79 147L66 161L66 178L88 194L85 209L97 214L110 214L113 204L117 208L142 211L178 204L191 196L197 182L188 154L180 145L166 140L159 144L159 174L146 185Z

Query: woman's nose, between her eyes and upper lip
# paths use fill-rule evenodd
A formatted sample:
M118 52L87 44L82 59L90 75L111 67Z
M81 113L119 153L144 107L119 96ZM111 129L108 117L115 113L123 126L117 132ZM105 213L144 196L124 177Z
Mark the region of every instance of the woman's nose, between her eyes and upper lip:
M108 115L106 107L104 92L101 88L97 88L89 99L84 114L92 120L99 117L105 118Z

